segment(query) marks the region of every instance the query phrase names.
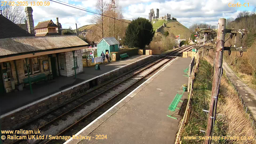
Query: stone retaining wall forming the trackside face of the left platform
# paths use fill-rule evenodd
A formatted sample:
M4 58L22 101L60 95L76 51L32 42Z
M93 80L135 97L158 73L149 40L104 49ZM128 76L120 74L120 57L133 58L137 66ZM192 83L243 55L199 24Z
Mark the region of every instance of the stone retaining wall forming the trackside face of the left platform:
M81 82L80 84L76 84L70 88L66 88L60 92L37 100L36 102L32 102L26 106L8 112L0 116L2 130L14 130L19 128L20 126L31 122L32 120L48 113L50 110L53 110L62 104L77 98L84 94L87 90L92 88L93 86L97 86L128 72L150 60L153 60L156 56L148 56L136 62L132 62L126 66L122 66L106 74L102 74L100 76L96 76L90 80L86 80Z

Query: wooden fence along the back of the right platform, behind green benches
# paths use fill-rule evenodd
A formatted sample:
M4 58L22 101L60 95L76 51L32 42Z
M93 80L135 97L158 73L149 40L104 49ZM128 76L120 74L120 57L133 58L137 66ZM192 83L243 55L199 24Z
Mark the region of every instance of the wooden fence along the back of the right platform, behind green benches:
M190 64L194 61L194 58L191 60ZM192 66L192 64L191 64ZM190 68L191 68L190 66ZM197 52L197 56L196 56L196 66L194 68L194 65L192 66L192 68L190 69L191 70L191 73L189 74L190 78L191 78L191 85L190 87L188 87L188 92L190 91L189 93L189 98L188 98L188 104L187 104L187 107L186 107L186 110L185 110L185 113L184 113L184 116L183 116L183 119L182 119L182 122L180 124L180 129L178 131L178 134L176 136L176 141L175 141L175 144L180 144L180 140L181 140L181 133L183 132L184 130L184 126L185 124L188 123L188 118L189 118L189 114L190 114L190 101L191 101L191 97L193 96L192 92L193 92L193 84L194 84L194 76L198 70L198 66L199 66L199 52ZM190 71L189 70L189 71ZM190 79L189 78L189 79ZM189 82L190 84L190 82Z

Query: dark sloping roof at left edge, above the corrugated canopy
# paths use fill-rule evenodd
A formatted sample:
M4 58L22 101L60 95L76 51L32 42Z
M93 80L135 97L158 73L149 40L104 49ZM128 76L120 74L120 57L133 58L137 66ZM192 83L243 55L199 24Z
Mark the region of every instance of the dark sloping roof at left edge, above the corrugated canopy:
M0 38L13 38L20 36L23 37L33 35L0 14Z

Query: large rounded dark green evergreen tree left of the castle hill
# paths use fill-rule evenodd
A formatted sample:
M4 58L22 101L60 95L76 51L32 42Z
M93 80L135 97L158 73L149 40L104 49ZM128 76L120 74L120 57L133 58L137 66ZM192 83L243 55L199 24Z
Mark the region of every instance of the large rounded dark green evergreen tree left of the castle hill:
M145 48L154 37L154 30L151 22L146 18L136 18L126 28L124 45L128 47Z

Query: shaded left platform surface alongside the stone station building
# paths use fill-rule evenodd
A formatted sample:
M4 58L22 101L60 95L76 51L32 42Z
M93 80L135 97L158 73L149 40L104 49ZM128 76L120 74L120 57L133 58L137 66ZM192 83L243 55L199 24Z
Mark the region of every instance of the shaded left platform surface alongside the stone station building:
M86 67L84 72L77 75L75 79L74 76L64 77L59 76L54 80L47 82L39 82L38 84L32 84L33 94L30 94L29 86L27 86L23 91L9 92L7 94L0 96L0 115L6 114L12 110L35 102L45 98L51 94L84 82L101 74L107 73L111 70L115 70L132 62L136 62L140 59L146 58L146 55L131 56L128 59L110 62L107 64L100 64L100 70L96 71L95 67Z

